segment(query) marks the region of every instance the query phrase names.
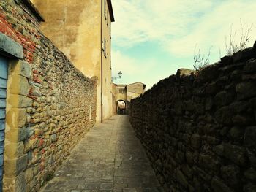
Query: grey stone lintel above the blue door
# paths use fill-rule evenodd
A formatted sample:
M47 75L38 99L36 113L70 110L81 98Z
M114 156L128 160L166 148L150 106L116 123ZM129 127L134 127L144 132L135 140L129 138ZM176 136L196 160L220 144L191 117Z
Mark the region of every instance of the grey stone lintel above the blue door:
M0 53L10 58L23 58L23 47L0 32Z

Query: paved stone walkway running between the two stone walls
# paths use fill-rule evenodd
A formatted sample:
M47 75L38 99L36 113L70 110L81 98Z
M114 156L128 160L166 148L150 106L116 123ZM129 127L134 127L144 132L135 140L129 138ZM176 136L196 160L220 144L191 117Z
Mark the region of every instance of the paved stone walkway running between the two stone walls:
M42 191L162 191L127 115L91 128Z

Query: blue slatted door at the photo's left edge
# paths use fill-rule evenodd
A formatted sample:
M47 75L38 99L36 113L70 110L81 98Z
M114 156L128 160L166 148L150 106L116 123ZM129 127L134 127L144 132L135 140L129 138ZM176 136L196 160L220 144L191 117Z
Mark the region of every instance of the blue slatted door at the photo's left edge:
M4 129L5 129L5 107L7 96L7 59L0 55L0 191L3 185L3 161L4 161Z

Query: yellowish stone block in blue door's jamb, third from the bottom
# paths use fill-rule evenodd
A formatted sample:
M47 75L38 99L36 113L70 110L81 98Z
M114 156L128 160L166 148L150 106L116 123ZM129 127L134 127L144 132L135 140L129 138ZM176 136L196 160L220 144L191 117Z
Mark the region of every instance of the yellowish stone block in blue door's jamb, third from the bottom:
M19 158L24 153L23 142L10 142L5 145L4 155L7 158Z

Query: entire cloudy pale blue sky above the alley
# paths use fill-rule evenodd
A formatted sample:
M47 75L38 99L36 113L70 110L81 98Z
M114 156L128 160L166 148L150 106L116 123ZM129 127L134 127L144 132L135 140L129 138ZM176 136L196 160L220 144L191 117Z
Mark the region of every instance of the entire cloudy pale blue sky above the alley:
M210 63L226 55L230 34L238 44L249 31L249 47L256 40L255 0L113 0L113 77L116 83L143 82L147 88L175 74L193 69L200 49ZM242 26L242 27L241 27ZM243 31L243 32L242 32ZM197 52L197 51L196 51ZM205 57L206 57L205 56Z

